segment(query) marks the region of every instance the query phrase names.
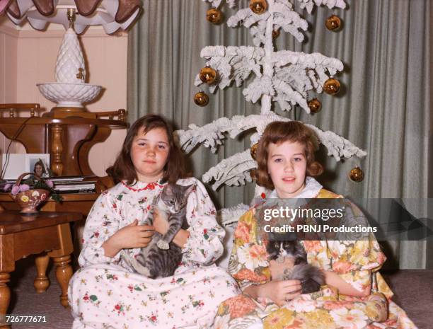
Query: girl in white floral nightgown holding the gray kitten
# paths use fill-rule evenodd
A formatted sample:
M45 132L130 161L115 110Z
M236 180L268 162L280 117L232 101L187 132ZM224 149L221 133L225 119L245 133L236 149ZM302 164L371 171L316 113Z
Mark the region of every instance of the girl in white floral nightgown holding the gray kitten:
M200 181L180 179L182 168L171 129L161 117L146 115L132 125L108 170L119 183L103 192L88 214L81 269L69 283L73 329L207 328L218 304L239 293L236 282L214 265L225 233L214 205ZM154 231L167 231L158 215L153 226L142 225L164 182L195 184L187 201L190 228L173 239L183 248L175 274L149 279L135 274L120 251L137 255Z

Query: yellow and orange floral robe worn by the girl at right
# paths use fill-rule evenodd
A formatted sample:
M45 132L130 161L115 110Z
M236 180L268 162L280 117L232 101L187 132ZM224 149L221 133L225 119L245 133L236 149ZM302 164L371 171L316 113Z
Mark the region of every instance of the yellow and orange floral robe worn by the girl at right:
M316 197L341 197L321 189ZM362 212L350 204L354 217ZM257 219L253 207L238 221L229 273L241 289L270 281L265 243L256 236ZM240 329L416 329L405 311L391 301L393 292L378 272L385 262L379 243L369 241L301 241L308 263L337 272L342 279L366 297L338 294L322 286L319 292L302 294L279 308L272 301L256 301L246 294L227 299L219 305L215 328Z

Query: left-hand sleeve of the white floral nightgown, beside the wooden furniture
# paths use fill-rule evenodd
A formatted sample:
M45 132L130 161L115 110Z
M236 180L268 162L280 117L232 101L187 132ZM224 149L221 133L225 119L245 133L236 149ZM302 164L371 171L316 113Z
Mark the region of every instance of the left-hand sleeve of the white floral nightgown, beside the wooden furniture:
M113 258L105 256L103 243L119 229L120 215L116 200L110 190L103 192L93 204L86 219L83 231L83 250L79 255L79 265L85 267L101 263L118 263L120 252Z

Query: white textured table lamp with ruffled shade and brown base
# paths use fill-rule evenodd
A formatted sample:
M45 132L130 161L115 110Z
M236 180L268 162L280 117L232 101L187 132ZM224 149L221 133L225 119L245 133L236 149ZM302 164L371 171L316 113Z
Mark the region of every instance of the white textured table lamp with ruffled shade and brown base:
M27 18L36 30L47 23L62 24L66 30L57 54L56 82L37 83L40 93L57 103L52 116L84 115L84 103L100 93L102 86L85 83L86 66L76 34L88 25L102 25L105 33L125 30L139 15L139 0L0 0L0 15L6 13L19 25Z

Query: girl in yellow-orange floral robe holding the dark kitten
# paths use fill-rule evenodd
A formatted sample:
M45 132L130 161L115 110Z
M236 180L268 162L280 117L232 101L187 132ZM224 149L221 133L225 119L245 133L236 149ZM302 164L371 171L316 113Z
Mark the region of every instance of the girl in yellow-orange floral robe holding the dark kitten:
M317 144L313 132L300 122L267 126L254 173L259 185L273 190L267 197L342 197L308 177L323 171L313 157ZM346 217L365 220L354 204L345 205ZM272 280L284 264L268 261L267 239L257 230L259 208L256 205L238 221L229 273L243 294L219 305L216 329L416 329L391 301L393 293L378 272L386 258L374 236L367 241L301 241L308 263L325 275L326 285L319 292L301 294L297 280Z

